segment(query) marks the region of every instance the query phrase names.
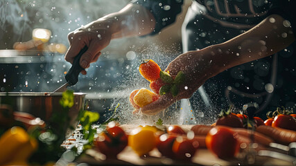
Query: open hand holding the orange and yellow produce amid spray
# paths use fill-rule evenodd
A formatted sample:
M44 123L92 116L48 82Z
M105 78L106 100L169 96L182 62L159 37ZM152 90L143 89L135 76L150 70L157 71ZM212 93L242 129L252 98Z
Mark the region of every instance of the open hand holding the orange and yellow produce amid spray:
M165 71L177 75L182 71L186 75L184 84L179 86L179 93L173 97L171 93L162 95L158 100L142 107L140 111L145 114L154 115L168 108L171 104L182 98L190 98L206 80L218 73L218 66L214 63L211 48L189 51L174 59Z

